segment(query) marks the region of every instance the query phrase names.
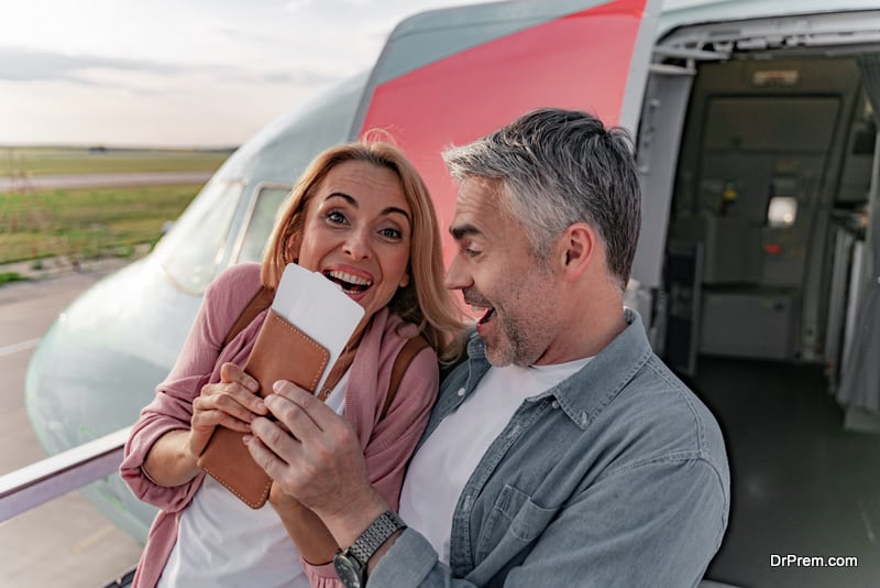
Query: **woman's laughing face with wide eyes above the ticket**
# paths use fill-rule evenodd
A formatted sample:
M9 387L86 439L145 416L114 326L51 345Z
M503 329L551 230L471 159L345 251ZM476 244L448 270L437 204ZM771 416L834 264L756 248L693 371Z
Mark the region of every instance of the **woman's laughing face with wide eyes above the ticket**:
M340 163L309 198L298 263L342 286L363 306L365 324L409 283L411 217L392 170Z

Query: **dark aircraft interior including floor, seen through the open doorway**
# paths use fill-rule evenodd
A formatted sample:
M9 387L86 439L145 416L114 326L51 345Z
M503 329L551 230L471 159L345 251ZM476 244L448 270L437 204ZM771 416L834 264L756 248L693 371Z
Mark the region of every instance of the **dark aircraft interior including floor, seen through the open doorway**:
M858 577L880 577L880 418L857 421L838 398L877 206L862 62L880 47L788 44L744 33L693 51L705 61L663 62L689 72L690 91L654 306L659 348L725 433L730 522L706 577L735 586L842 577L780 571L769 559L778 553L853 555Z

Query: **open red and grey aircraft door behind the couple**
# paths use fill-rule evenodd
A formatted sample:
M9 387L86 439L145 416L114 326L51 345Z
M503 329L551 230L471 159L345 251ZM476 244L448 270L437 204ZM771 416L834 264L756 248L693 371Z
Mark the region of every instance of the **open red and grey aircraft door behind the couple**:
M538 107L636 127L660 2L499 2L419 14L392 33L352 135L384 129L427 182L441 227L455 186L440 152ZM454 242L444 237L447 259Z

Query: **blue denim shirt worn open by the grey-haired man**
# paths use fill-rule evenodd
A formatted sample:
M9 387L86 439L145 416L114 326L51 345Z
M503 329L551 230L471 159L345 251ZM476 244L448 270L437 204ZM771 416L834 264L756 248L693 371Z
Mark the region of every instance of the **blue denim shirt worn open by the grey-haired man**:
M453 514L449 565L407 529L370 586L698 584L727 526L724 440L651 351L638 314L626 319L582 370L524 401L483 455ZM422 442L490 369L475 334L468 356Z

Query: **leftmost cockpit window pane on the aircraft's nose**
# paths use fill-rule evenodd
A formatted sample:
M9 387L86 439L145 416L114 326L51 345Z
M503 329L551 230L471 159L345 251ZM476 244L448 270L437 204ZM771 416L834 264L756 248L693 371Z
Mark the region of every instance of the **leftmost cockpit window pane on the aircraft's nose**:
M176 287L201 294L213 280L243 188L209 183L160 241L156 258Z

